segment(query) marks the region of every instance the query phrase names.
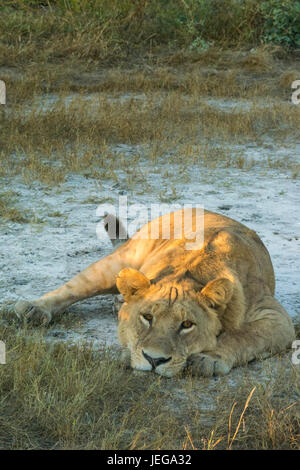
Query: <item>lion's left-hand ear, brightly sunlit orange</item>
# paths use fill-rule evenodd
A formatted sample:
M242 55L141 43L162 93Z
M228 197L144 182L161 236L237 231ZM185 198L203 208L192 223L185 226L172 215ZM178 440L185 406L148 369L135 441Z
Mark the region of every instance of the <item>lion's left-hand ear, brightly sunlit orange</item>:
M120 293L123 294L125 302L128 302L138 290L147 289L150 286L150 281L140 271L125 268L119 272L116 284Z

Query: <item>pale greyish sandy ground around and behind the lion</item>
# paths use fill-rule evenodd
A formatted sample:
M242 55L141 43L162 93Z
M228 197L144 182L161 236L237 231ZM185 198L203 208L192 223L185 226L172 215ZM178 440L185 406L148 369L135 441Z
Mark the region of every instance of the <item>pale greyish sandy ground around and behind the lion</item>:
M173 171L176 178L176 169ZM6 189L19 194L18 207L30 208L37 222L6 222L1 227L1 302L40 296L110 253L112 248L101 217L96 215L99 208L101 211L101 204L90 201L110 197L118 204L119 195L127 195L128 207L134 203L158 203L157 193L166 185L162 173L163 167L160 174L149 173L150 186L156 191L148 189L143 195L130 194L125 185L122 189L122 171L120 183L105 181L102 190L83 176L68 177L59 189L45 189L38 182L29 188L18 179L7 181ZM300 310L299 181L275 170L195 167L188 173L190 182L176 185L178 198L173 203L203 205L256 230L273 260L276 296L295 316ZM57 211L60 216L52 217ZM81 304L80 308L84 314L92 306L95 321L99 318L103 330L102 315L112 317L111 304L111 298L98 297ZM110 338L107 334L103 336Z

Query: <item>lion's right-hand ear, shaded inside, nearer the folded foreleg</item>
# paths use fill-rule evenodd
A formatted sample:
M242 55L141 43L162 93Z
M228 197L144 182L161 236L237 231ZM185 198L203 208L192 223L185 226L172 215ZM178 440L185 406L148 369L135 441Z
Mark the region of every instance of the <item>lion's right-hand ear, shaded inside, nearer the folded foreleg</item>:
M200 292L202 300L209 307L226 307L233 295L233 283L226 278L214 279L206 284Z

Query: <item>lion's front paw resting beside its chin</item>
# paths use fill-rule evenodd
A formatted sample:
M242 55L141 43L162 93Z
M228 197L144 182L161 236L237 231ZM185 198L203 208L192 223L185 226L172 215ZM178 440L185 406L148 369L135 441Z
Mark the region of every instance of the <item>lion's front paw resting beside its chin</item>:
M193 375L212 377L226 375L231 366L219 354L193 354L188 360L188 366Z

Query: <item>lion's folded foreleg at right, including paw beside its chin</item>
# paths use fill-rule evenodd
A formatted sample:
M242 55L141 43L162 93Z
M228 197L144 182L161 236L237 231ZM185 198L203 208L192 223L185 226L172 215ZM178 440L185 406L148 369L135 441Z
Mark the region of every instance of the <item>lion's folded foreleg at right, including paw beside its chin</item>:
M288 313L274 297L265 296L251 308L241 328L223 332L214 351L195 354L189 363L195 375L225 375L233 367L286 350L294 339Z

